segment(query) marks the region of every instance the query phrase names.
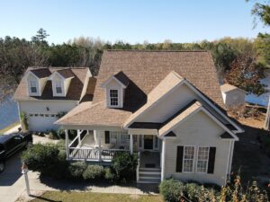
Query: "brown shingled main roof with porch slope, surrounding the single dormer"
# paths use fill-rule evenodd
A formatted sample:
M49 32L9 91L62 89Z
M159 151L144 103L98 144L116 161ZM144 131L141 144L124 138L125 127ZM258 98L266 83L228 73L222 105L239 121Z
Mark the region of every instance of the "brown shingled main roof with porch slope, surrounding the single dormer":
M157 84L173 71L192 83L213 103L223 107L220 85L210 52L104 51L94 90L94 105L68 119L59 119L58 124L122 127L132 113L147 103L151 97L149 93ZM105 93L101 85L117 72L126 75L130 83L125 91L123 108L108 109L105 107ZM179 82L178 79L175 81ZM171 82L168 80L167 85L171 85Z

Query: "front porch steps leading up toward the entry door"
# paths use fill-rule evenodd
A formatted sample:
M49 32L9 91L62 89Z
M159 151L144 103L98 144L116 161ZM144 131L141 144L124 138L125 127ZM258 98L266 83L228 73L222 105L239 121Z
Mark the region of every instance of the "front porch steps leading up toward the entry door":
M137 183L159 183L161 179L161 169L139 168L139 180Z

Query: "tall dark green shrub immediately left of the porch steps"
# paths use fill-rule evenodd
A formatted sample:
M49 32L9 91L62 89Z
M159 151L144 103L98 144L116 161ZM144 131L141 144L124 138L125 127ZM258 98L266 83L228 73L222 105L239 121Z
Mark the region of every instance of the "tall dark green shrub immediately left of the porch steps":
M138 164L138 155L127 152L116 153L112 158L114 180L127 182L134 180Z

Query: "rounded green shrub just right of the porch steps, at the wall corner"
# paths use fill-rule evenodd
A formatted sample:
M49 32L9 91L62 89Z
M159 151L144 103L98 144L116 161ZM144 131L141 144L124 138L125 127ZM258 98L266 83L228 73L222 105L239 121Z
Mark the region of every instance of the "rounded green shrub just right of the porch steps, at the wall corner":
M184 196L184 183L179 180L163 180L159 185L159 191L167 202L178 202Z

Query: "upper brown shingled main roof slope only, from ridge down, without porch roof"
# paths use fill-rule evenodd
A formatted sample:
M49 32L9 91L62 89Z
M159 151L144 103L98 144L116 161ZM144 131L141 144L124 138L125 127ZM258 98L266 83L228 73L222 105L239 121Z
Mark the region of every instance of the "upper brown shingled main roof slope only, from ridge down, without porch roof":
M94 92L94 102L105 99L101 84L115 72L120 71L130 79L130 85L126 91L136 87L144 95L155 88L166 75L175 71L209 97L211 101L223 107L216 68L210 52L104 51ZM126 97L128 100L137 99L137 103L146 101L141 100L143 96L138 98L137 92L130 91L129 96ZM130 104L130 101L125 103Z

